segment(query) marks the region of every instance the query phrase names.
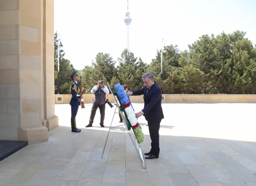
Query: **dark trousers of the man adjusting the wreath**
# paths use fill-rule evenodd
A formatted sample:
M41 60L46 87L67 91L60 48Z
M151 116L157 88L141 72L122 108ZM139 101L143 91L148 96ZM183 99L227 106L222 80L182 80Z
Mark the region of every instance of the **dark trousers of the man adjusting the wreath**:
M158 156L160 152L159 148L159 128L161 120L159 121L148 121L148 129L151 138L151 154Z

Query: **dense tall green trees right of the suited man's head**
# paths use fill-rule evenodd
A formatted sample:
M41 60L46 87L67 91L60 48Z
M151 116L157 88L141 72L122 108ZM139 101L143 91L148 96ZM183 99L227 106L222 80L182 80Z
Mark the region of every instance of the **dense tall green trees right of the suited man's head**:
M183 52L177 46L167 46L163 81L161 51L152 59L149 71L163 93L255 94L256 49L245 34L203 35Z

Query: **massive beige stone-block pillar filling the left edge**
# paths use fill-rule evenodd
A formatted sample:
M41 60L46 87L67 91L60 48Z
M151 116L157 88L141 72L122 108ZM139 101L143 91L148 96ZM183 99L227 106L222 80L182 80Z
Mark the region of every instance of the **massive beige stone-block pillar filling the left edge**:
M53 9L51 2L49 9ZM45 68L44 55L54 49L43 42L43 3L0 0L0 140L23 140L29 144L48 141L48 128L42 125L42 119L48 113L48 105L52 106L47 100L51 93L54 104L54 91L47 91L47 85L54 86L54 80L47 80L47 73L53 77L54 70ZM53 22L53 17L50 19ZM56 120L54 106L49 110Z

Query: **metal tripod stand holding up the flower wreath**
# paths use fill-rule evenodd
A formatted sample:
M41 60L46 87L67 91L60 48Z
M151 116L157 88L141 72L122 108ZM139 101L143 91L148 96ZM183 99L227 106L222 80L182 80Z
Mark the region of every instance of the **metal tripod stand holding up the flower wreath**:
M109 86L109 84L108 84L108 86ZM128 121L127 121L126 117L124 116L123 112L120 111L120 106L121 106L121 105L120 105L120 102L119 102L118 100L116 100L116 98L114 97L114 94L113 94L112 90L110 89L110 86L109 86L109 90L111 91L112 96L113 96L113 98L114 98L114 100L115 100L114 105L116 105L116 108L118 108L118 111L119 111L119 112L116 112L116 109L115 109L114 115L120 113L120 115L121 115L121 117L122 117L122 119L123 119L123 121L124 121L124 124L123 124L123 125L125 125L125 128L126 128L128 134L129 134L129 136L131 137L132 143L133 143L134 147L136 148L136 151L138 152L138 154L139 154L139 156L140 156L140 159L141 159L141 161L142 161L142 167L140 167L140 168L146 169L146 164L145 164L145 161L144 161L144 157L143 157L143 155L142 155L142 151L141 151L141 148L140 148L140 144L139 144L139 142L138 142L138 140L137 140L137 138L136 138L136 136L135 136L133 130L132 130L132 129L130 129L130 130L128 129L128 126L127 126ZM112 121L111 121L111 124L110 124L110 127L109 127L109 132L110 132L110 129L111 129L111 128L115 128L115 127L111 127L111 126L112 126L113 119L114 119L114 115L113 115L113 118L112 118ZM116 127L120 127L120 126L123 126L123 125L118 125L118 126L116 126ZM105 142L105 146L104 146L104 148L103 148L103 152L102 152L101 158L103 158L103 154L104 154L104 151L105 151L105 148L106 148L106 144L107 144L107 141L108 141L108 137L109 137L109 132L108 132L108 136L107 136L107 139L106 139L106 142Z

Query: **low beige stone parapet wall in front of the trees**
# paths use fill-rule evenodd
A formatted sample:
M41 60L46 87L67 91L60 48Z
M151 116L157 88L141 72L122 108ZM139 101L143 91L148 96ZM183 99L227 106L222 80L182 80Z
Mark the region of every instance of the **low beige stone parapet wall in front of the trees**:
M108 94L114 102L112 94ZM55 104L69 104L69 94L55 94ZM83 94L85 103L93 102L93 94ZM144 102L143 95L131 96L131 102ZM162 102L256 102L256 94L162 94Z

